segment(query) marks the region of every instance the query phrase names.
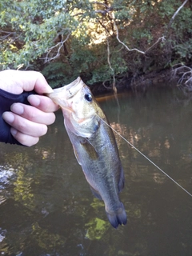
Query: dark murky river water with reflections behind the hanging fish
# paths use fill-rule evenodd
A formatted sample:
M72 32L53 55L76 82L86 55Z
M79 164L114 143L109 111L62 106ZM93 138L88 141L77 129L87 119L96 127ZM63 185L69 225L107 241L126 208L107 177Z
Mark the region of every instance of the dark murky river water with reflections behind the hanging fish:
M111 126L192 193L192 101L165 87L98 98ZM0 255L192 255L192 198L115 137L128 222L115 230L74 158L58 111L37 146L1 144Z

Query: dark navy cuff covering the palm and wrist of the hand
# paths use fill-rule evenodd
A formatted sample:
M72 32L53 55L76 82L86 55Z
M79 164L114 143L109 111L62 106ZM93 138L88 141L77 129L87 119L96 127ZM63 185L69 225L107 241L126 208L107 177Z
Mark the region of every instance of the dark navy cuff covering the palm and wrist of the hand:
M0 89L0 142L22 145L10 133L10 125L3 120L2 113L5 111L10 111L10 106L16 102L30 105L30 103L27 101L27 97L30 94L36 93L33 90L30 92L25 91L22 94L10 94L5 90Z

